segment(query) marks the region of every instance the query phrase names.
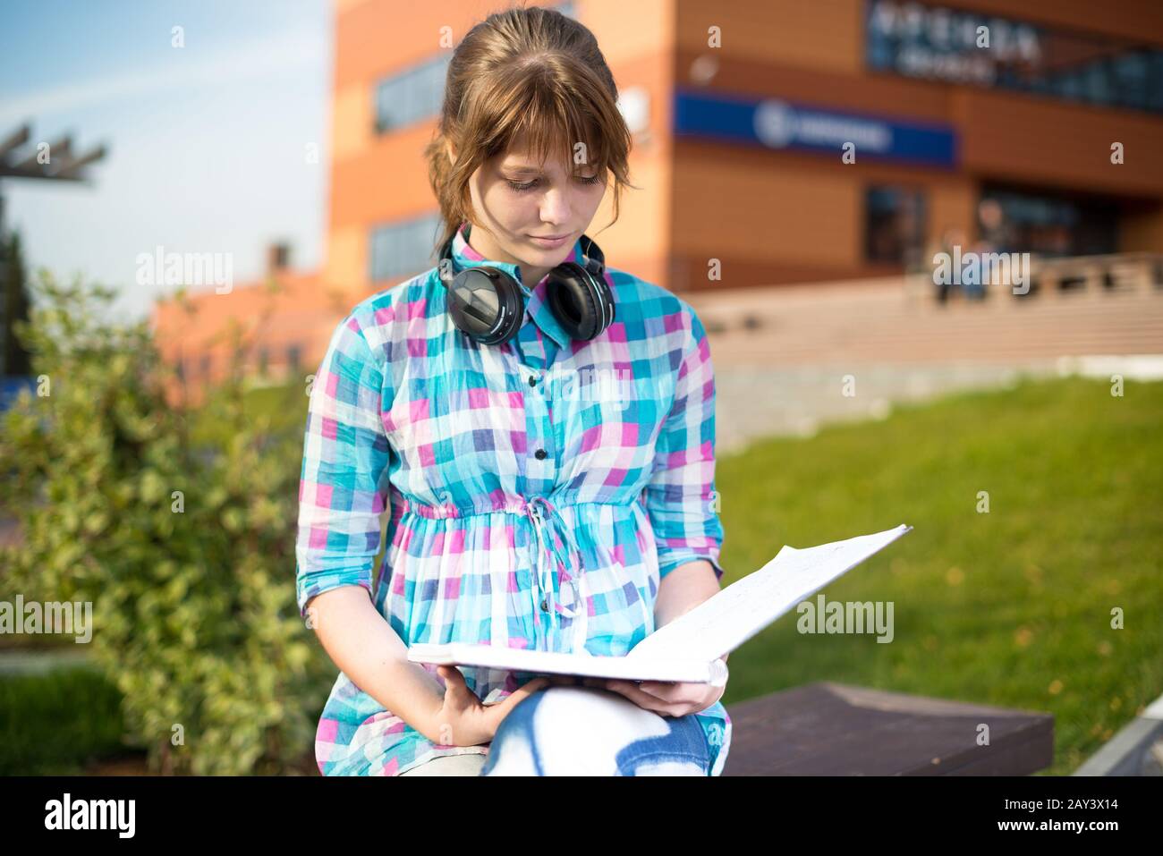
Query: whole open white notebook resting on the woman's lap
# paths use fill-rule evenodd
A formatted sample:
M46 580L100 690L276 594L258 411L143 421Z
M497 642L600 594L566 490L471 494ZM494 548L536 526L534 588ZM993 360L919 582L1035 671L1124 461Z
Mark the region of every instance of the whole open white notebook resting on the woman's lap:
M408 649L408 659L534 673L722 686L727 671L719 658L723 654L735 650L801 600L912 529L901 523L875 535L800 550L784 547L763 568L650 634L622 657L600 657L585 650L561 654L450 642L414 644Z

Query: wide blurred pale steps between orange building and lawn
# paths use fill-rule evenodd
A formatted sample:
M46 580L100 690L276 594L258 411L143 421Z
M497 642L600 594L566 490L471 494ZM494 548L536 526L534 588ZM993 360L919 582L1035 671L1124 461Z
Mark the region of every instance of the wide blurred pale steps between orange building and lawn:
M993 286L947 304L929 286L896 277L684 294L711 337L719 450L883 418L892 401L1069 373L1075 357L1163 355L1160 283L1023 298Z

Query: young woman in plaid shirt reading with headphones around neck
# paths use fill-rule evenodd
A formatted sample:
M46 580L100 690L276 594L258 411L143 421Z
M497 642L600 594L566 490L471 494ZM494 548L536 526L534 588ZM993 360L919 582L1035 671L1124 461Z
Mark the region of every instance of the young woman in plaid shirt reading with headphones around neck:
M457 47L436 268L361 301L311 391L299 607L341 672L324 775L719 775L723 687L411 663L420 642L627 654L719 590L705 330L586 235L630 135L593 35L537 7ZM380 513L390 504L388 547Z

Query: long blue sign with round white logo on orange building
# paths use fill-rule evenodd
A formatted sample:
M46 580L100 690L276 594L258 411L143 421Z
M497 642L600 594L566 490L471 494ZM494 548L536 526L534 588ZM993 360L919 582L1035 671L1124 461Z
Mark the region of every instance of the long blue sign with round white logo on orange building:
M948 124L822 109L778 99L676 90L676 136L704 136L770 149L826 151L852 143L857 160L876 157L956 166L957 133Z

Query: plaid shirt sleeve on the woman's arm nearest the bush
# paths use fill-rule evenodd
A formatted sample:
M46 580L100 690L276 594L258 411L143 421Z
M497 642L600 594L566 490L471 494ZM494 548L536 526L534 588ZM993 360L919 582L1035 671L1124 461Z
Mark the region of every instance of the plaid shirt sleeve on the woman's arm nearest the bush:
M372 591L388 495L384 377L356 319L344 319L331 335L307 407L295 540L302 618L307 602L330 588Z

